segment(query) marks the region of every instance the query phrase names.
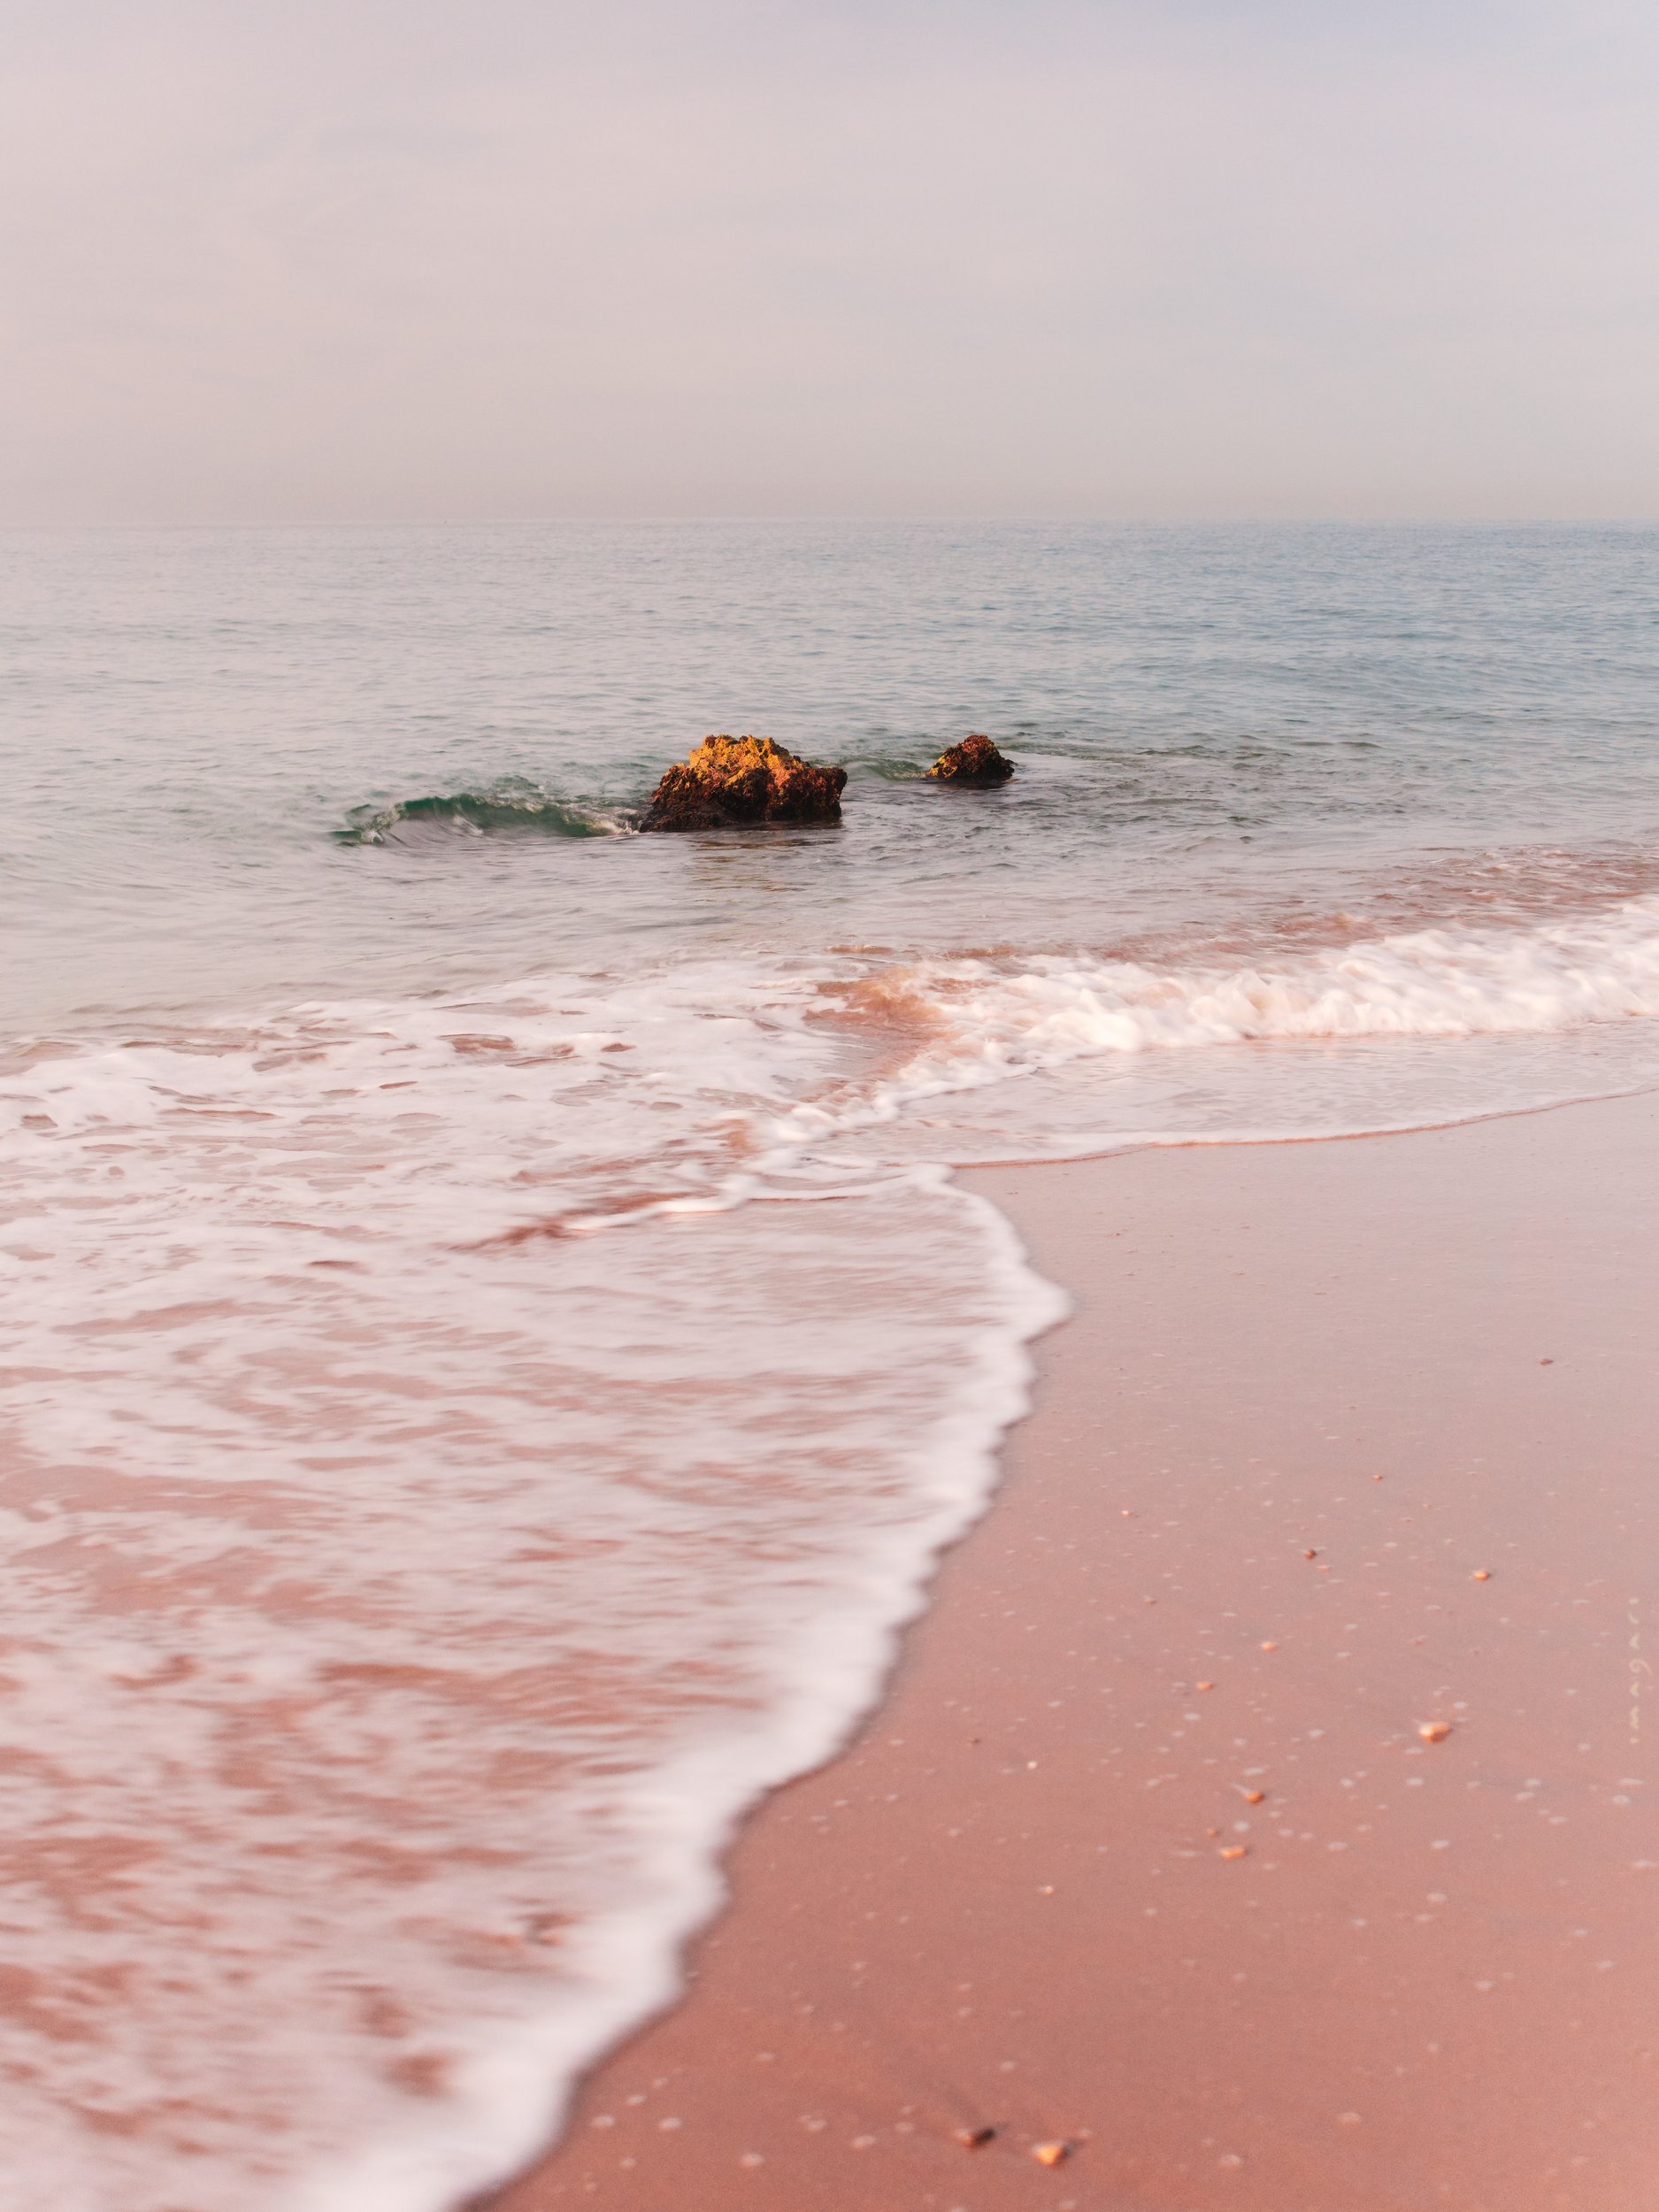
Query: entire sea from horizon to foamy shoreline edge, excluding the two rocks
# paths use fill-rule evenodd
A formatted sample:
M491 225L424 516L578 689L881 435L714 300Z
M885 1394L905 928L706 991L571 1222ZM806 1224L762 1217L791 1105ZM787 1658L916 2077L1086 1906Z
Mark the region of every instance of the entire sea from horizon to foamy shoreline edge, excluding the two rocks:
M989 1498L956 1166L1659 1082L1652 529L31 533L0 633L4 2205L549 2139ZM843 825L637 836L708 730Z

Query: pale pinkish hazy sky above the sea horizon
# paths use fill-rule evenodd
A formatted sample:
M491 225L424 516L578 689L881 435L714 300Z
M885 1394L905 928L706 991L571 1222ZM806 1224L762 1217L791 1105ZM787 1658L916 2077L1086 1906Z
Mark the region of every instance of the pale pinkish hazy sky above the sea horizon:
M1657 95L1652 0L0 0L0 520L1659 515Z

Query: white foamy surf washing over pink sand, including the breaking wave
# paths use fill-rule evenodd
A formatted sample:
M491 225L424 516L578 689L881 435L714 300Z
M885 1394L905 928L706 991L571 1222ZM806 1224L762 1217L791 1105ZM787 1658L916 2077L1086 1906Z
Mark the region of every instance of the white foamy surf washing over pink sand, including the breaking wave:
M1637 900L24 1055L13 2201L440 2212L535 2148L989 1493L1057 1294L942 1161L1610 1088L1655 1011Z

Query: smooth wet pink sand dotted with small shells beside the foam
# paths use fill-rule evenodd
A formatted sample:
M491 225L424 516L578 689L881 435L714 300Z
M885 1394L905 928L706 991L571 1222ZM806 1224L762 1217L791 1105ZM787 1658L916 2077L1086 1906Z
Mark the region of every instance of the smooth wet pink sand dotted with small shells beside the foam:
M1652 2212L1655 1168L969 1177L1077 1296L1006 1484L493 2212Z

